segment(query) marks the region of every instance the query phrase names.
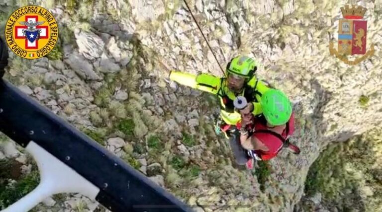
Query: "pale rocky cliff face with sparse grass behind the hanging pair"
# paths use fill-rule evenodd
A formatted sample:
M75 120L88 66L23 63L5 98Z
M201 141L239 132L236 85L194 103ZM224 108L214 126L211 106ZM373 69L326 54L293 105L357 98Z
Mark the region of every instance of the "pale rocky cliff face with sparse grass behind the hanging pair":
M223 69L237 54L252 56L262 64L258 78L293 102L291 141L302 152L282 152L257 174L235 167L227 141L215 136L215 99L166 80L169 70L222 75L183 1L33 2L59 22L59 44L34 61L11 53L5 78L196 211L292 211L325 146L381 124L381 2L364 1L375 56L349 66L329 54L347 1L188 1ZM26 3L2 1L1 20ZM21 148L1 145L0 158L35 171ZM62 195L39 207L97 204Z

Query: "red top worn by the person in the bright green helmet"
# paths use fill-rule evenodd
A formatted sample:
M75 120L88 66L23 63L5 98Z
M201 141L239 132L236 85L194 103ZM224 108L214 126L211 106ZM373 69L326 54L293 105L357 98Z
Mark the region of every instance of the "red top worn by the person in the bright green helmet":
M239 122L236 127L240 130L241 122ZM255 129L254 133L252 129ZM250 132L250 136L255 136L259 141L263 142L267 147L268 151L255 150L255 153L262 160L269 160L276 157L281 148L283 147L283 141L276 135L270 132L262 132L262 130L268 130L267 122L264 117L256 117L254 124L247 126L247 130ZM284 129L281 137L287 140L290 135L294 132L294 114L290 116L289 121L286 123L286 128Z

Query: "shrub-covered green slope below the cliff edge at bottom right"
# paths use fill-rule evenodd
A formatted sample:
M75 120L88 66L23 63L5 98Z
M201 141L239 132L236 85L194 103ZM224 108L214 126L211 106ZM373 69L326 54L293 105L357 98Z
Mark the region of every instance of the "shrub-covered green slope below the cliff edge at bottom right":
M322 194L324 206L343 211L378 211L382 207L381 130L328 145L309 168L304 193ZM363 204L358 204L363 203Z

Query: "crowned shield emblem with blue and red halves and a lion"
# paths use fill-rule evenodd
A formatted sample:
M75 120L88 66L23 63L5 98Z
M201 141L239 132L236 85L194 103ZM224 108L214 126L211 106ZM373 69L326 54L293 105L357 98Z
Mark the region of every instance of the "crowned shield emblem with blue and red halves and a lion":
M360 5L352 4L341 7L344 18L339 20L338 24L338 51L333 48L334 43L329 43L330 55L335 55L348 65L357 65L374 55L374 44L366 52L367 20L362 20L366 8ZM349 55L363 55L360 58L350 61Z

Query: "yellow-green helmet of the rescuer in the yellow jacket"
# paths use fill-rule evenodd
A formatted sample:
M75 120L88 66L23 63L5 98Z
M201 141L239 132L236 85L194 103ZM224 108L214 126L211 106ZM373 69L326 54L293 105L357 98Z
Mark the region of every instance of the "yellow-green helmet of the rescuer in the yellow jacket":
M238 56L233 58L227 65L227 73L233 73L245 78L253 76L257 70L257 63L252 58Z

